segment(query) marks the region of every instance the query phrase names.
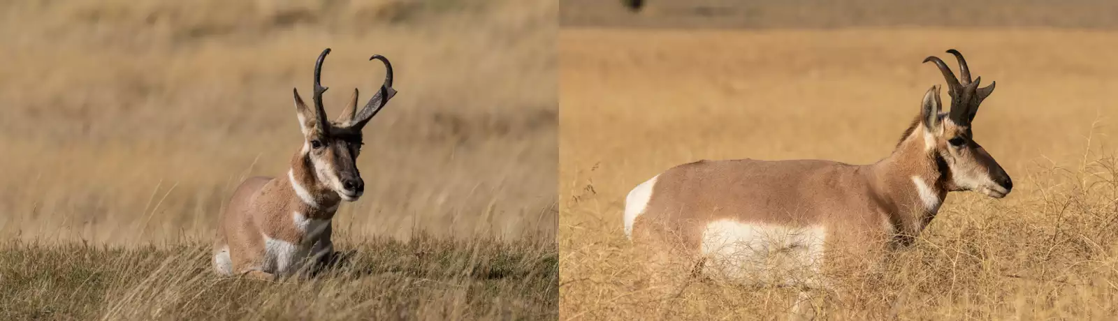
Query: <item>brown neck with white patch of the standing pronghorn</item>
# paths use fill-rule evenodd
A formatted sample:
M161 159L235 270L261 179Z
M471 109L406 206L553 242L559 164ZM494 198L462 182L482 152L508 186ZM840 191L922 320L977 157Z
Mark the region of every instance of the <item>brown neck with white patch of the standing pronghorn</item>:
M874 185L891 210L890 221L898 235L911 240L939 212L947 197L947 166L936 148L936 139L915 121L889 157L871 165Z

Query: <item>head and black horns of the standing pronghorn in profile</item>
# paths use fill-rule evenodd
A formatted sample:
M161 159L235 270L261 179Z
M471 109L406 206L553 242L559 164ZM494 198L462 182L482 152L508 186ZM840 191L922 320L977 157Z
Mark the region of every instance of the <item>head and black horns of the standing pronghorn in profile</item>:
M970 130L972 120L978 111L978 105L994 91L994 81L989 86L978 88L982 77L970 80L970 70L963 55L955 49L947 50L959 61L959 76L956 78L951 69L938 57L930 56L923 62L932 61L947 79L947 93L951 96L951 109L940 114L939 86L932 86L923 97L920 119L925 128L925 147L932 152L944 175L944 187L947 191L975 191L991 197L1002 198L1013 189L1013 181L986 153L986 149L975 142Z

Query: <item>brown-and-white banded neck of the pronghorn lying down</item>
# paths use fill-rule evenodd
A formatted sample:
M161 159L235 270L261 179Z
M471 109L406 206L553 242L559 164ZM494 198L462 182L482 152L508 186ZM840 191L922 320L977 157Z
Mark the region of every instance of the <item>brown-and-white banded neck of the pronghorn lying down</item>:
M306 153L295 154L287 171L287 185L295 192L295 210L309 218L330 220L338 212L341 197L319 182Z

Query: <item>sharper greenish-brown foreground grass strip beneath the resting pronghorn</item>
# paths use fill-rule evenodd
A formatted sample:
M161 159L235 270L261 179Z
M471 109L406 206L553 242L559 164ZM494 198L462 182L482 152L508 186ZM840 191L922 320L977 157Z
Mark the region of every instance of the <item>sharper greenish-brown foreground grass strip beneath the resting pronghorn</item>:
M350 264L313 281L216 278L210 245L8 242L3 320L548 320L553 241L428 236L348 243Z

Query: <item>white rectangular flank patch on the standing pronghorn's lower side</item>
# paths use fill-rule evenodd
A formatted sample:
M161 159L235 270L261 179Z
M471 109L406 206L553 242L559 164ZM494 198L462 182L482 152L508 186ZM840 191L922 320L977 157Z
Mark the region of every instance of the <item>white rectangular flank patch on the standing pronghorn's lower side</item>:
M705 269L746 284L819 286L826 228L720 220L702 233Z

